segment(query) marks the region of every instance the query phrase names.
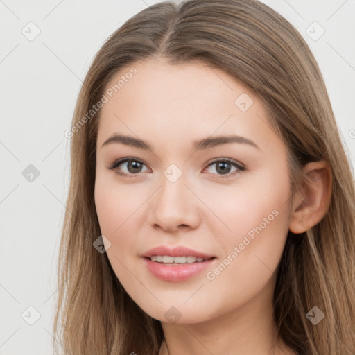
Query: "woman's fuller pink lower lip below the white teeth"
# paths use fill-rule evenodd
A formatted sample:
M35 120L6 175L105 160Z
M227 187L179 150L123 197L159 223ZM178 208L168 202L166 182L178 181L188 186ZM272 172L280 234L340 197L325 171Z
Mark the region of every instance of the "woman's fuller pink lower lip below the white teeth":
M214 262L216 258L200 263L164 264L144 258L148 270L158 279L164 281L184 281L202 272Z

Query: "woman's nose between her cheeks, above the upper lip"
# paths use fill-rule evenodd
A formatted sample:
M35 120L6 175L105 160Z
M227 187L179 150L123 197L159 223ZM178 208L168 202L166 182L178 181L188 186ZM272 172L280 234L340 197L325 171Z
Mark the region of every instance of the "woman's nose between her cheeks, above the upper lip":
M160 187L150 199L148 222L168 232L194 229L200 223L198 198L184 174L172 181L162 175Z

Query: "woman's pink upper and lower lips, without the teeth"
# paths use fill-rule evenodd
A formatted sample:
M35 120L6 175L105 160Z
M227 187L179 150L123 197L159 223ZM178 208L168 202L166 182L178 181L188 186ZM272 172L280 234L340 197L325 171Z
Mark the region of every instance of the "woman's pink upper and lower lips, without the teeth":
M157 261L151 261L149 258L153 255L168 255L170 257L192 256L206 259L206 261L184 264L163 264L158 263ZM216 259L213 255L197 252L196 250L187 247L180 246L171 249L164 245L148 250L148 252L142 255L142 257L144 257L144 261L148 270L155 277L164 281L173 282L184 281L186 279L189 279L190 277L193 277L193 275L196 275L198 274L198 272L202 272L203 270L211 266L211 263L213 263L214 259Z

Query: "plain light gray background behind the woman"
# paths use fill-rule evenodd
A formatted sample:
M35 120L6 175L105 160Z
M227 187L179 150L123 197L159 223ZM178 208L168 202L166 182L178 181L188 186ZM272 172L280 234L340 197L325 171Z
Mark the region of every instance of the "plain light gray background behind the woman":
M124 21L157 2L0 0L1 355L51 353L55 266L69 187L64 130L96 51ZM355 1L263 2L311 47L353 168ZM30 21L41 31L32 41L21 33L35 33ZM325 31L318 40L321 28L314 21ZM22 175L29 164L40 171L33 182ZM40 313L33 325L28 322L36 312L29 306Z

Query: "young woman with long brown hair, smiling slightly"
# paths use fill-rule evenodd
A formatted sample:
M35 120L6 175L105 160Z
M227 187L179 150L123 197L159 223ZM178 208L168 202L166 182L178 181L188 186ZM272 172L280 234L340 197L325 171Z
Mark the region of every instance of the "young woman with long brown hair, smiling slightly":
M139 12L98 51L69 137L58 352L355 353L354 178L281 15Z

